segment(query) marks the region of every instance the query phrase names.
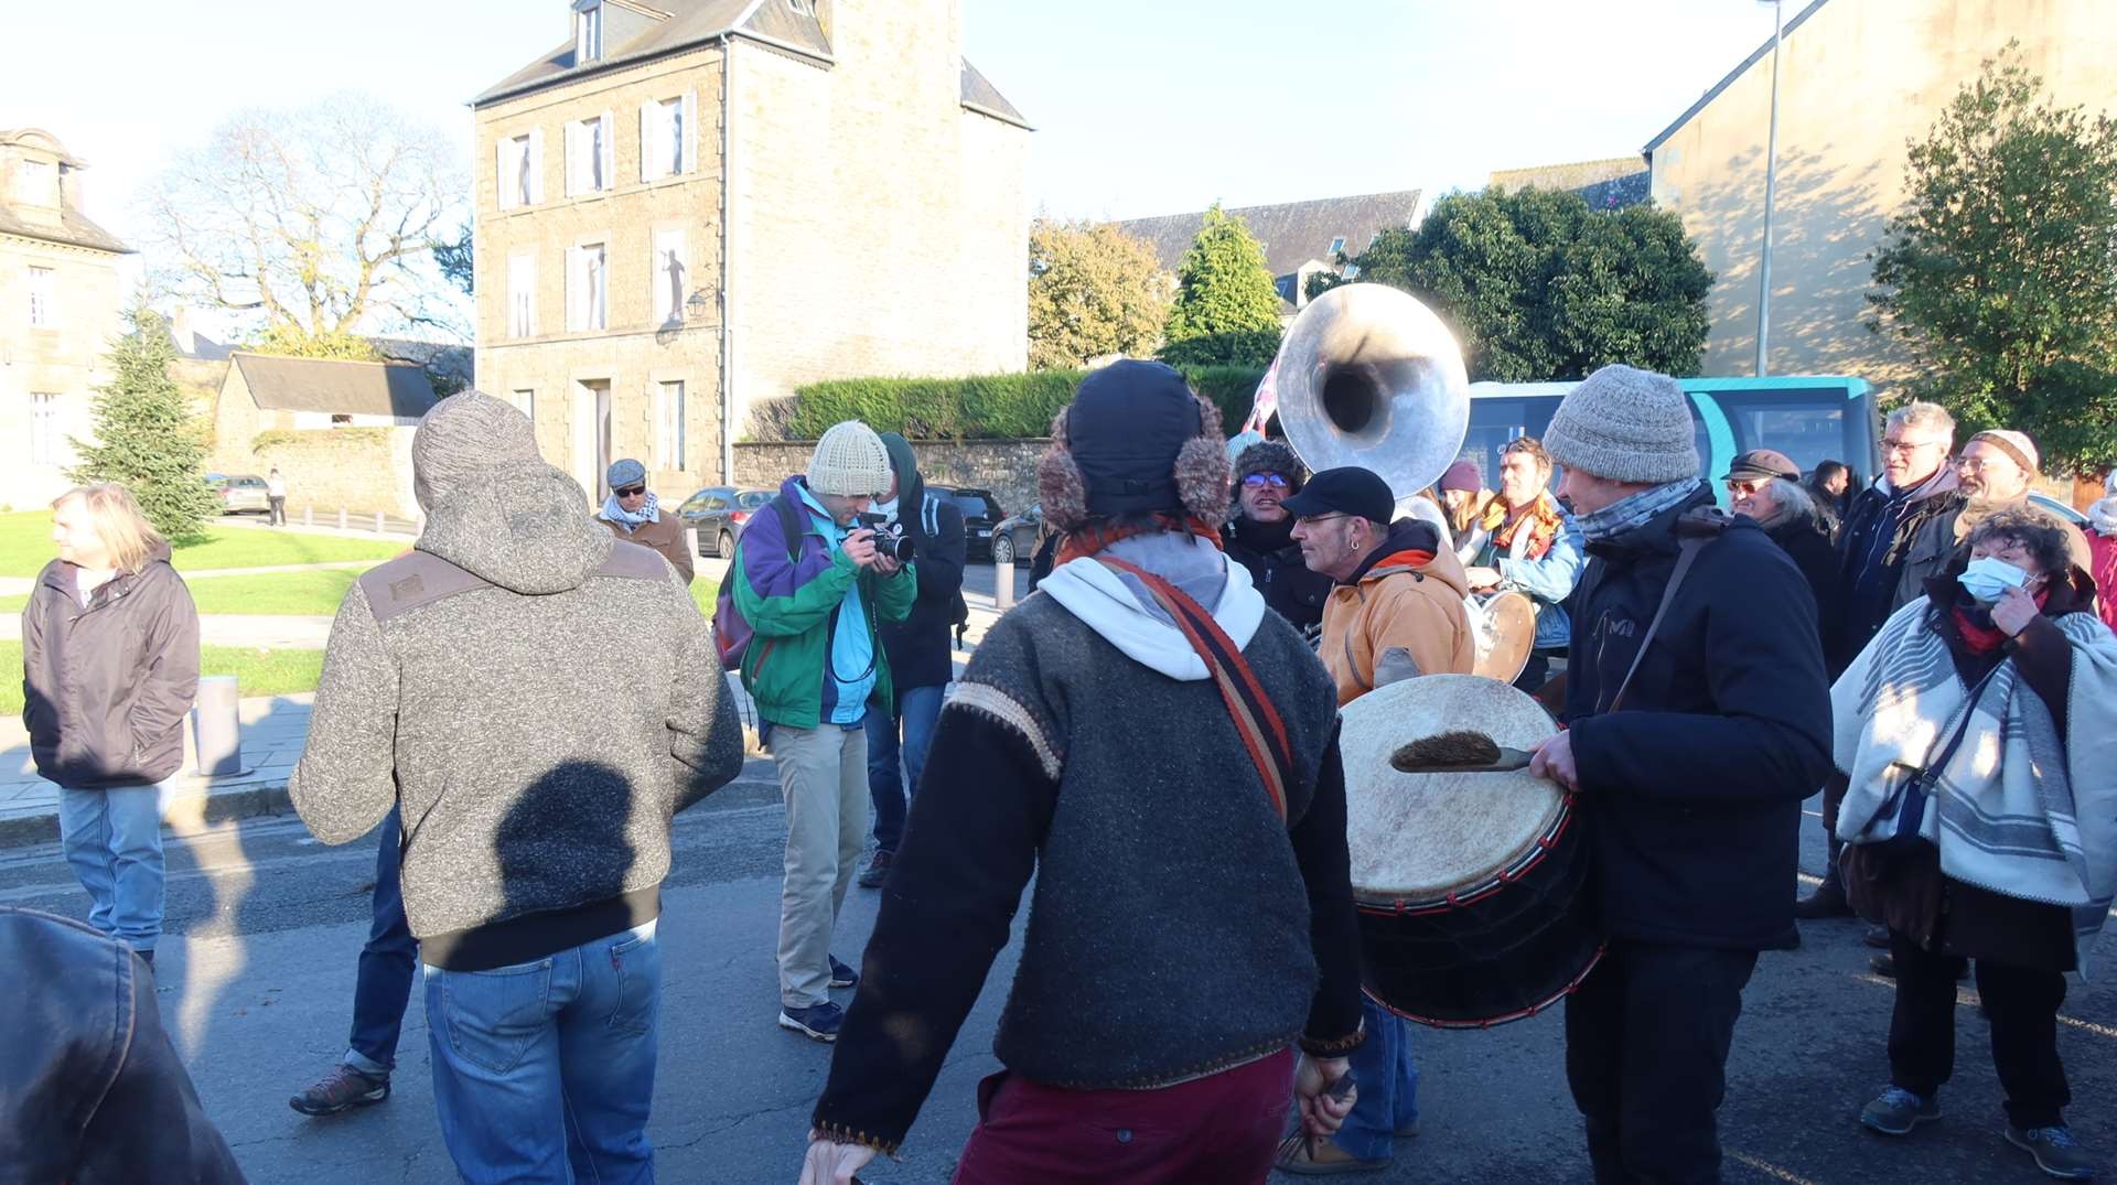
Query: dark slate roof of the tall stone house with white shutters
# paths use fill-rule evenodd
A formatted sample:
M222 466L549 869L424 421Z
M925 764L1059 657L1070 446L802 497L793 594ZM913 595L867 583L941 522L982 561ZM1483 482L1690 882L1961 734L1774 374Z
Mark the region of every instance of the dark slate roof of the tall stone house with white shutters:
M603 57L589 63L574 61L574 42L567 40L544 57L508 74L489 87L470 106L485 106L514 95L525 95L550 83L584 78L603 70L616 70L637 61L682 53L728 34L756 34L790 44L802 53L828 59L832 55L830 36L815 17L796 13L788 4L756 4L756 0L654 0L669 11L669 19L656 21L644 34L625 44L605 44ZM747 19L743 13L749 8ZM978 114L989 114L1020 127L1029 127L1023 112L1001 95L970 61L963 61L963 106Z

